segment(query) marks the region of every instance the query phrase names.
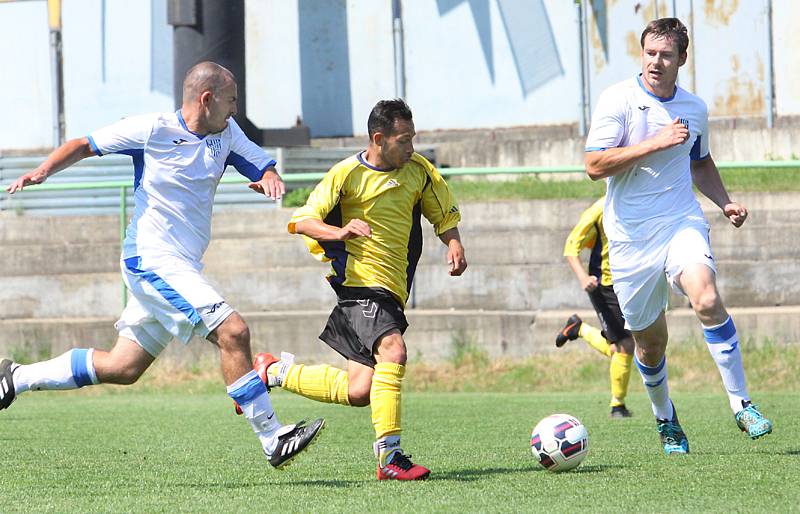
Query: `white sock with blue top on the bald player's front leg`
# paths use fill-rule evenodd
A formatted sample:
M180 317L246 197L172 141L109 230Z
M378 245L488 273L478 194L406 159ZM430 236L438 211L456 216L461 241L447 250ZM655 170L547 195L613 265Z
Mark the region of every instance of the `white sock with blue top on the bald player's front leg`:
M228 395L242 408L242 413L253 427L264 452L271 456L278 444L278 436L285 430L281 431L284 427L281 427L272 408L267 386L253 370L229 385Z

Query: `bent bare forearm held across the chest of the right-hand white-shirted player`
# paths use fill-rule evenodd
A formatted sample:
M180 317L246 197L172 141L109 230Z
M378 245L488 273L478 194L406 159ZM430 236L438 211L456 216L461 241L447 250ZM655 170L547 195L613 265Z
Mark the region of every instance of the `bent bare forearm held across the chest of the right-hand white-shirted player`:
M586 174L592 180L611 177L628 171L646 155L682 145L689 139L689 129L678 118L664 126L658 133L633 146L622 146L586 152L583 162Z

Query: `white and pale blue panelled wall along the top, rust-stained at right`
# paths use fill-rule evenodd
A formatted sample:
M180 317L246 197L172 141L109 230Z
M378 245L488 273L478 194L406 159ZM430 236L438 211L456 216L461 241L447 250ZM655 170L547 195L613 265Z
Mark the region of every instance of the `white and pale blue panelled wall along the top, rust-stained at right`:
M420 114L419 130L578 125L581 61L573 2L400 4L405 92ZM712 116L766 118L770 78L775 115L800 115L800 36L790 23L800 14L797 2L584 4L590 107L605 87L637 72L644 24L674 13L693 36L680 83L707 101ZM131 113L172 109L166 0L64 0L63 20L67 137ZM12 71L0 95L12 119L25 120L0 128L0 151L51 143L46 23L44 1L0 3L0 48ZM248 0L246 39L248 112L263 128L291 126L299 118L314 137L362 135L374 102L398 93L391 0Z

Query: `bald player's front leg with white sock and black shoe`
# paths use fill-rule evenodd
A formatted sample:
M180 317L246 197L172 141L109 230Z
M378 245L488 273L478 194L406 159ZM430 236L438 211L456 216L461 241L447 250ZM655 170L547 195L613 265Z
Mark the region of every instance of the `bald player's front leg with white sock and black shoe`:
M250 330L238 313L230 312L207 338L219 348L228 395L242 409L270 464L285 466L319 435L324 421L280 424L267 387L251 364Z

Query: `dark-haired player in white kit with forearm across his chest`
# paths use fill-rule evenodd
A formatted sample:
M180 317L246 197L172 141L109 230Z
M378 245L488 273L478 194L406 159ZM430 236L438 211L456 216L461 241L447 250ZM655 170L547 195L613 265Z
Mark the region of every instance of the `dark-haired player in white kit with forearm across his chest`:
M722 304L708 222L692 184L735 227L747 209L731 201L708 147L708 109L676 86L689 36L676 18L642 32L642 71L602 93L586 143L586 172L605 178L605 230L614 290L636 342L635 362L652 403L664 451L688 453L667 386L671 286L689 297L703 326L739 428L756 439L772 431L750 401L739 337Z

